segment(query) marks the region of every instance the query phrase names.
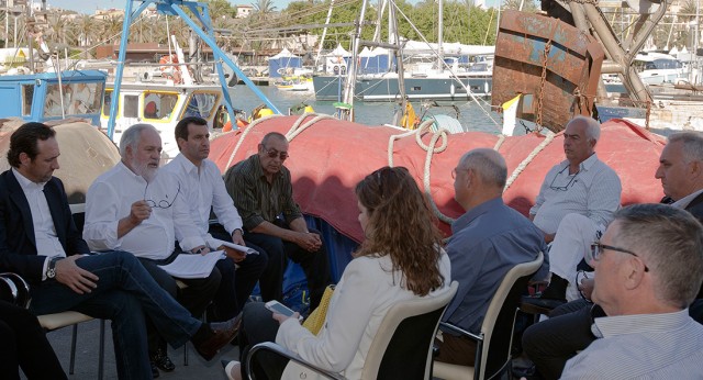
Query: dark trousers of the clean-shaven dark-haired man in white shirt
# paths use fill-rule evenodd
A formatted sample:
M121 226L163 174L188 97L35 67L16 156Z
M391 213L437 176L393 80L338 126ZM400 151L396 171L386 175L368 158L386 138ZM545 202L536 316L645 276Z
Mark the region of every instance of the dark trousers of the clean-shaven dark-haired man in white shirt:
M232 242L232 236L219 225L211 226L210 235L221 241ZM250 243L247 243L247 246L259 254L247 255L236 266L232 259L217 261L216 268L222 275L222 281L213 299L212 313L209 312L210 322L227 321L239 314L252 295L256 282L266 270L268 265L266 250Z

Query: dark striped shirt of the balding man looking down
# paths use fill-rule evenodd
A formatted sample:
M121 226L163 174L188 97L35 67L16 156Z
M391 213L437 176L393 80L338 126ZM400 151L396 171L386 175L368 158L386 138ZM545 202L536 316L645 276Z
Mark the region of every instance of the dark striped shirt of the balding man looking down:
M284 166L281 166L281 170L274 175L274 180L269 183L259 156L252 155L225 172L224 185L239 211L246 231L252 231L264 221L274 223L281 214L289 224L302 217L300 208L293 201L290 171Z

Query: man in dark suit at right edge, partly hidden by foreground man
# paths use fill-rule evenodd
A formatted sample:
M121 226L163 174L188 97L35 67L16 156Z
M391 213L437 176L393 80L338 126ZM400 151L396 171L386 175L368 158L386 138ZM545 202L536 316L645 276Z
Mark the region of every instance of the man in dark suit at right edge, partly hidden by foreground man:
M679 132L669 136L659 157L655 178L667 195L662 203L684 209L703 223L703 134ZM588 289L592 289L592 280ZM590 291L584 290L590 297ZM703 288L689 306L693 320L703 323ZM550 318L528 327L523 334L523 348L545 379L557 379L566 362L588 347L595 336L593 317L604 316L599 305L576 300L555 309Z

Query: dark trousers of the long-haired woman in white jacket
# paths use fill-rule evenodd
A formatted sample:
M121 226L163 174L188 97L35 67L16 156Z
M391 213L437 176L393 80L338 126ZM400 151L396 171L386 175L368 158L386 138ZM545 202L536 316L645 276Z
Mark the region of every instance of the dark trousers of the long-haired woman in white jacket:
M270 310L264 302L249 302L244 306L242 327L239 329L239 360L242 361L242 378L246 377L246 357L250 348L263 342L276 342L278 322L271 316ZM256 379L280 379L288 365L288 359L271 351L258 351L252 361L252 369Z

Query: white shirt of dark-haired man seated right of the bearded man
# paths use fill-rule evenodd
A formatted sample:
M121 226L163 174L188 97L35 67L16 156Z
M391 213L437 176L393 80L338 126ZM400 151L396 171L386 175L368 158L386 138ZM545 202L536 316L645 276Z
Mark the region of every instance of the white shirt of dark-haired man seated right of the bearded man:
M242 217L224 187L224 180L215 163L203 159L199 169L183 154L178 154L164 170L178 179L180 193L190 208L190 216L211 248L217 248L212 246L212 236L208 233L211 208L217 216L217 222L230 235L237 228L242 230Z

